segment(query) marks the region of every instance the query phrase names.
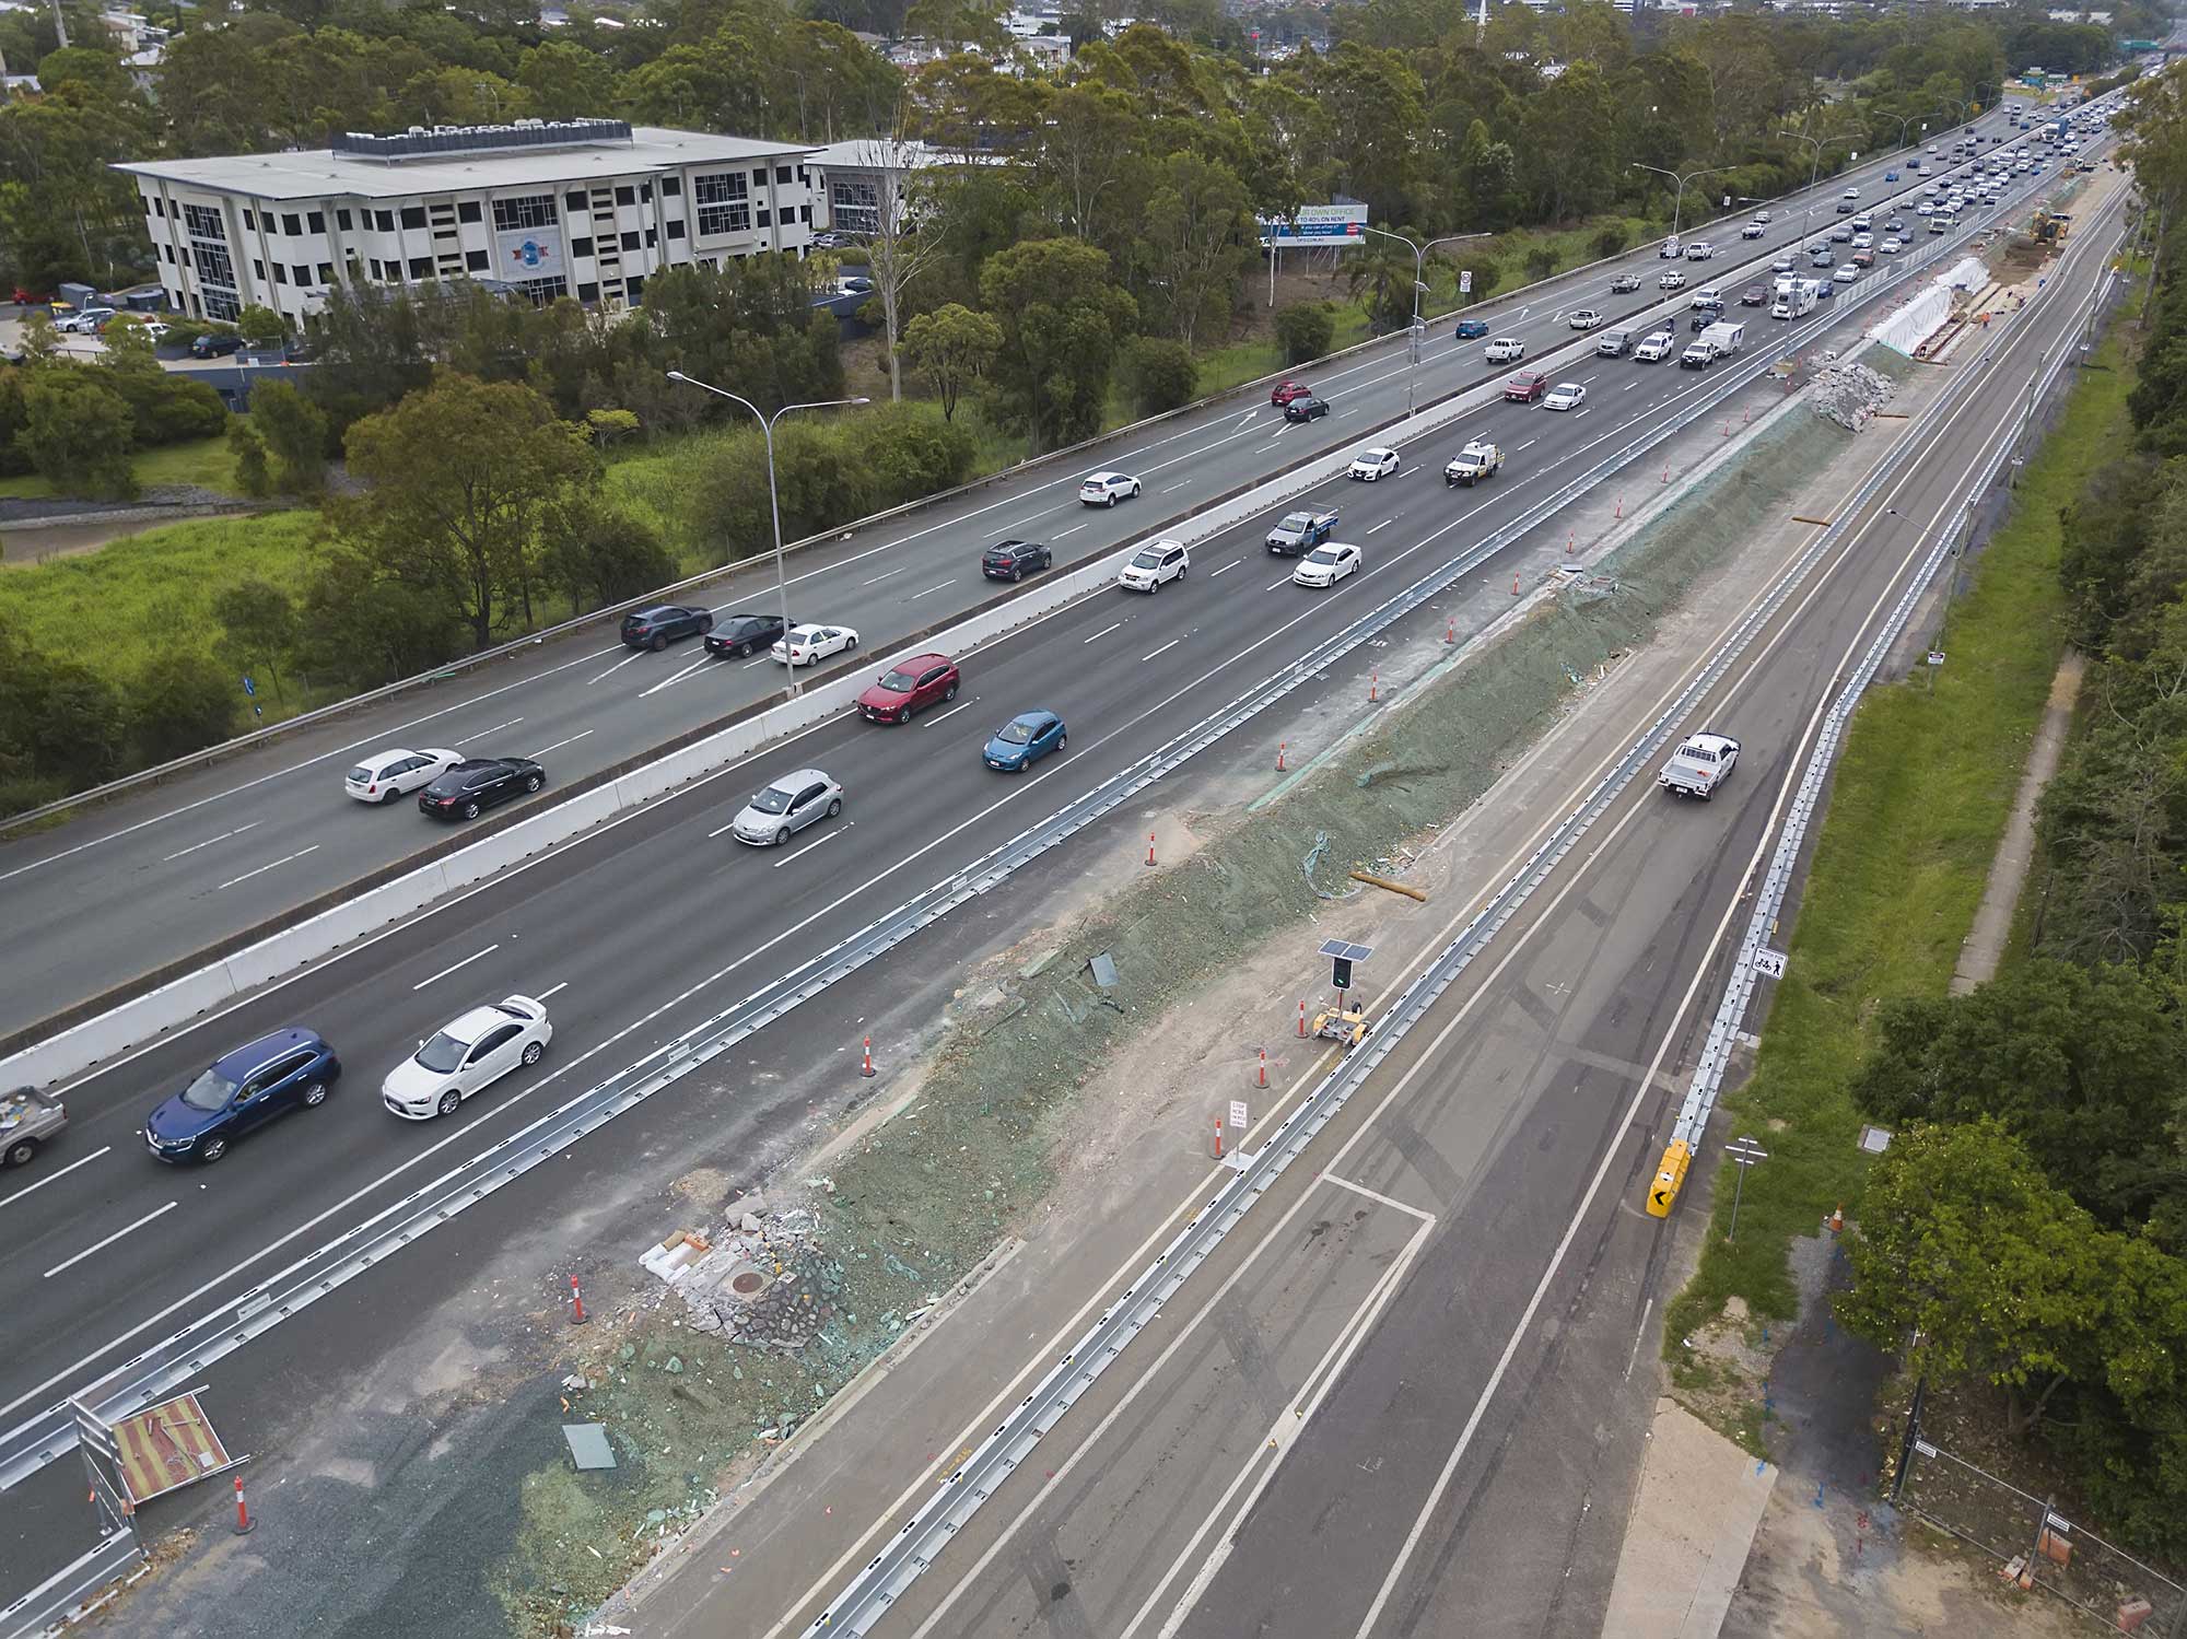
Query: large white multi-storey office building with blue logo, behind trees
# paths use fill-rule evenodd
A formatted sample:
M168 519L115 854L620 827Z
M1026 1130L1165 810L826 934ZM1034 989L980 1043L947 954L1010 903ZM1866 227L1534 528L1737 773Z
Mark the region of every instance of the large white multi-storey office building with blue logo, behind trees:
M621 313L663 267L803 256L814 149L621 120L346 135L332 149L118 164L168 306L297 321L337 284L496 280Z

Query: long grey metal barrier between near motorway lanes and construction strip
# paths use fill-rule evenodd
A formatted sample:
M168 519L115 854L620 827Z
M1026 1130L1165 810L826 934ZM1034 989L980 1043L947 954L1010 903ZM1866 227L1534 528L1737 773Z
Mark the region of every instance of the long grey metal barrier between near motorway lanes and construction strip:
M1879 280L1863 297L1848 302L1848 310L1866 299L1881 297L1892 282ZM1019 830L1015 837L991 850L986 857L951 872L923 894L912 896L886 916L866 924L833 948L761 986L741 1001L724 1007L713 1018L685 1031L676 1042L667 1042L636 1064L617 1071L597 1086L580 1093L558 1110L540 1117L523 1132L510 1134L472 1160L442 1174L433 1182L405 1195L374 1217L308 1252L289 1267L245 1292L234 1302L221 1305L197 1322L175 1331L166 1340L138 1353L122 1366L101 1375L74 1390L103 1418L118 1420L153 1405L157 1396L171 1392L184 1379L195 1379L208 1366L234 1353L243 1344L262 1335L280 1320L317 1302L337 1287L356 1278L381 1259L422 1237L431 1228L448 1222L466 1206L494 1193L510 1180L523 1176L540 1160L560 1154L571 1143L615 1119L623 1110L643 1104L660 1088L674 1084L722 1051L728 1051L752 1031L781 1018L792 1007L809 1001L831 983L849 977L875 957L892 951L923 927L940 920L971 898L1002 883L1010 872L1069 839L1094 824L1118 804L1188 763L1225 734L1251 721L1258 712L1352 653L1384 627L1439 597L1450 583L1463 579L1478 564L1500 553L1511 542L1540 527L1575 496L1588 492L1603 476L1634 461L1647 448L1704 420L1721 400L1750 387L1767 374L1776 358L1793 347L1813 326L1798 334L1782 334L1771 347L1741 354L1732 369L1726 369L1693 404L1666 417L1647 433L1636 435L1610 457L1597 461L1586 472L1568 479L1553 494L1529 507L1509 524L1485 535L1467 551L1446 559L1417 581L1393 594L1378 608L1363 614L1345 629L1314 645L1306 656L1282 671L1264 677L1229 704L1203 717L1166 745L1146 754L1131 767L1094 787L1083 798L1065 804L1045 820ZM26 1418L7 1434L0 1434L0 1490L22 1484L44 1464L66 1455L74 1447L74 1420L68 1405L59 1403Z

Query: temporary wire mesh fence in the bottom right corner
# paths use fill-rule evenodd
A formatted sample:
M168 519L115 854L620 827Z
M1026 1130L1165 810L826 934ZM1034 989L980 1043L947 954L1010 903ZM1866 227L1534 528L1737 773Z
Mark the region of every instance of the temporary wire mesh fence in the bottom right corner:
M1920 1436L1907 1451L1898 1506L1997 1556L1999 1576L2025 1573L2021 1587L2056 1593L2113 1632L2187 1635L2187 1589L2178 1582Z

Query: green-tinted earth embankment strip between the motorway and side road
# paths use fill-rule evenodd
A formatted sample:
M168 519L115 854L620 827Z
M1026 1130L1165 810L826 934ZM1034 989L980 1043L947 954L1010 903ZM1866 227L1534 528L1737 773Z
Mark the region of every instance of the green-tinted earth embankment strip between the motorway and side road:
M695 1335L667 1287L634 1331L604 1329L599 1355L564 1388L569 1420L606 1423L621 1469L577 1475L562 1462L525 1479L525 1528L494 1578L514 1626L545 1635L582 1622L704 1512L715 1475L755 1438L787 1438L811 1418L1034 1208L1052 1184L1054 1117L1126 1031L1303 918L1319 894L1352 892L1354 863L1387 859L1461 813L1597 664L1645 642L1686 588L1774 527L1844 437L1804 411L1756 435L1747 459L1492 653L1008 977L1002 997L945 1036L914 1104L824 1178L783 1178L768 1191L765 1217L783 1228L783 1206L794 1224L805 1224L798 1208L814 1213L776 1259L796 1272L796 1300L809 1294L811 1342L752 1348ZM1087 970L1102 951L1115 962L1113 990ZM1271 1001L1275 1012L1290 1005L1288 994ZM711 1552L730 1567L735 1538Z

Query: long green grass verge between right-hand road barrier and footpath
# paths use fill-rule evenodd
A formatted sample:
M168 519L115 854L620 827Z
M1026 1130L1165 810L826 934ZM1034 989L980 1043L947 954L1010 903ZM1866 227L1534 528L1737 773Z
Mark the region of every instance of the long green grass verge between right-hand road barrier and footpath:
M1761 1139L1769 1160L1750 1169L1736 1246L1726 1243L1732 1191L1717 1191L1699 1267L1664 1311L1673 1377L1684 1337L1732 1298L1789 1320L1791 1239L1839 1202L1859 1213L1866 1160L1848 1080L1881 1001L1951 983L2065 649L2058 509L2128 433L2135 378L2117 337L2097 363L1953 608L1951 662L1872 688L1846 734L1754 1073L1717 1123Z

